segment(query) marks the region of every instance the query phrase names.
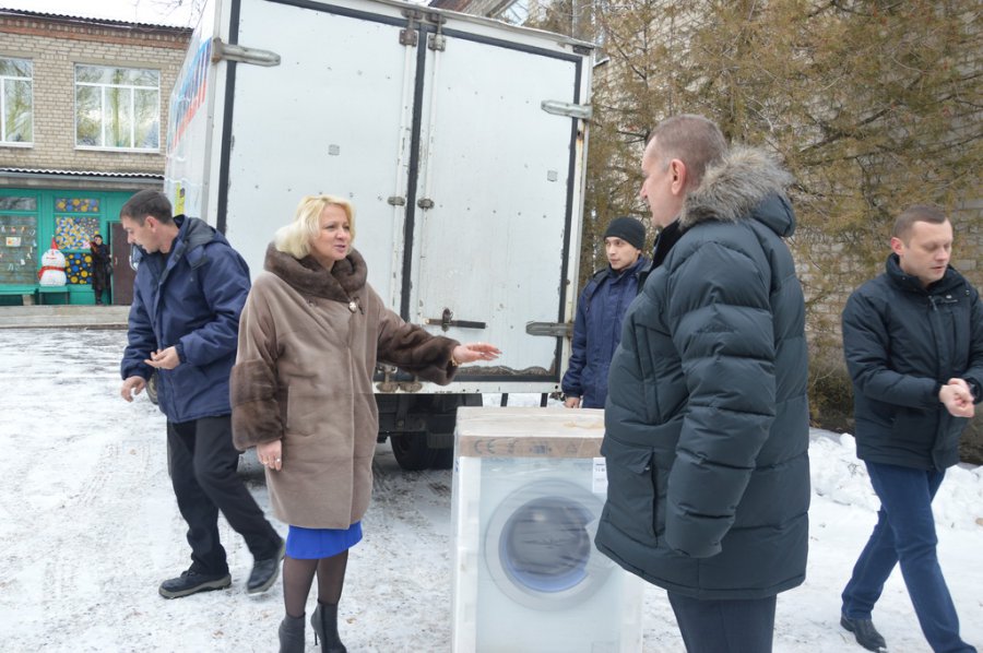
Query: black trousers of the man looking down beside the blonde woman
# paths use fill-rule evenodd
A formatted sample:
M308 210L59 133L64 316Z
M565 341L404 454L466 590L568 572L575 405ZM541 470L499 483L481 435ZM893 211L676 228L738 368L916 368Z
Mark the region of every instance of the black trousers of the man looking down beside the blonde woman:
M188 522L192 569L201 573L228 572L225 549L218 542L218 511L246 539L252 557L274 557L281 538L246 485L236 474L239 452L232 441L232 418L202 417L167 423L170 483L181 517Z

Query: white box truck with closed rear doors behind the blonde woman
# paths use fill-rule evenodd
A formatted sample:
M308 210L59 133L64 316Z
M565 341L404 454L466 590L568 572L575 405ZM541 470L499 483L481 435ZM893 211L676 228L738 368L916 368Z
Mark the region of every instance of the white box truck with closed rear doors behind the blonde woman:
M569 356L592 51L386 0L213 0L170 98L165 192L256 275L300 198L356 209L369 282L403 319L498 345L438 387L378 368L380 441L449 466L460 405L549 393Z

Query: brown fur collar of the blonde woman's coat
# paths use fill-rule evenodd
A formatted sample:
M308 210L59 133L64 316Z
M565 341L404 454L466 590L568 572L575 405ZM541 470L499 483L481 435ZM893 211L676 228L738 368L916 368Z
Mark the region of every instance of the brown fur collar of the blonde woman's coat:
M355 249L350 250L343 261L337 261L331 270L327 270L312 257L297 260L277 250L272 242L267 247L263 268L299 293L346 304L365 287L368 275L365 259Z

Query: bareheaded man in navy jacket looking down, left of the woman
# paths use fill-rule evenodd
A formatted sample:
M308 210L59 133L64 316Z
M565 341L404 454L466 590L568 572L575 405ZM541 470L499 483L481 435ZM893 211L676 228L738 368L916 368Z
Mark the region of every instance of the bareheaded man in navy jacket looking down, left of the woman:
M171 216L170 202L159 192L134 194L120 221L139 254L120 394L133 401L157 371L171 484L191 545L191 567L164 581L161 595L229 586L220 510L256 559L246 591L264 592L280 573L283 539L236 475L239 453L228 399L249 269L206 223Z

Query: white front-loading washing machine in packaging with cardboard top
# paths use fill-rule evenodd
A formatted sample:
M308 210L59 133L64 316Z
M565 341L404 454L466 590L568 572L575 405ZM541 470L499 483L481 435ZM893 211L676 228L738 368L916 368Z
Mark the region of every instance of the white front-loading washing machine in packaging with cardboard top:
M453 651L641 651L642 581L594 547L600 409L458 409Z

